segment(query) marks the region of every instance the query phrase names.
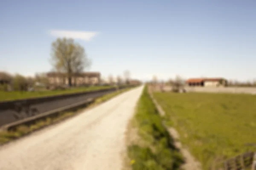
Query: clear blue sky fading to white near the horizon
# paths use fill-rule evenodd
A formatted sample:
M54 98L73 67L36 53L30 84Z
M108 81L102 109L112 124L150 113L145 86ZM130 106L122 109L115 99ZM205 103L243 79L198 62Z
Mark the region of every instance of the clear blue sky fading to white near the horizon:
M103 76L256 78L256 0L8 0L0 6L0 70L50 71L55 31L76 39ZM52 34L51 34L52 33ZM69 34L70 35L70 34Z

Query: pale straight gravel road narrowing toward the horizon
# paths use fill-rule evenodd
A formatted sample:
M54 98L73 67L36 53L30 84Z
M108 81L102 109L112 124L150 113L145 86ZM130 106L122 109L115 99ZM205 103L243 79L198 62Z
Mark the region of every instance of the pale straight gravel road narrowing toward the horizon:
M0 147L0 170L120 170L143 87Z

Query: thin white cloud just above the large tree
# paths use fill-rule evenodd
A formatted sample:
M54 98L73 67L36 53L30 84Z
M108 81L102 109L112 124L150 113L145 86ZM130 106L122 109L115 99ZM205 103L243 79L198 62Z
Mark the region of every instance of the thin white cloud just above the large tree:
M54 37L67 37L90 41L98 32L51 30L50 34Z

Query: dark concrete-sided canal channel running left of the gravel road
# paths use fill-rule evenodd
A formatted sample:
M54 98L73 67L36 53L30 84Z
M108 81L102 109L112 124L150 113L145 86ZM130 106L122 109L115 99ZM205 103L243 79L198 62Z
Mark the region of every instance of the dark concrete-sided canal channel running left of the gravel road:
M119 89L130 87L133 86L120 87ZM23 120L29 121L30 119L34 121L33 118L53 114L53 112L63 111L63 109L67 110L68 107L73 108L76 105L86 104L88 99L95 99L116 90L116 88L110 88L76 94L0 102L0 127L8 130L9 125L13 125L12 123L23 122Z

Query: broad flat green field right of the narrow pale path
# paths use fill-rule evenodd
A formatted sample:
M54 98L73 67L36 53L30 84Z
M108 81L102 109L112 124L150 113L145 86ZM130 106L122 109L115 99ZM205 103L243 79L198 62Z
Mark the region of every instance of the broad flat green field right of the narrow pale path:
M256 96L249 94L154 93L181 142L204 169L256 147Z

